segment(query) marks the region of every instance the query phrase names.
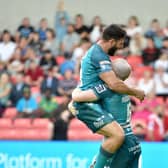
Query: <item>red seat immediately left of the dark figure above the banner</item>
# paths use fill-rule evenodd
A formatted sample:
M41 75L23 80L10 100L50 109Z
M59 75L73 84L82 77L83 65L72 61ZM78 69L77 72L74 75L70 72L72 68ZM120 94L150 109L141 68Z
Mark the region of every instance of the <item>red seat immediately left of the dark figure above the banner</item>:
M33 128L51 128L52 123L49 119L37 118L33 120Z

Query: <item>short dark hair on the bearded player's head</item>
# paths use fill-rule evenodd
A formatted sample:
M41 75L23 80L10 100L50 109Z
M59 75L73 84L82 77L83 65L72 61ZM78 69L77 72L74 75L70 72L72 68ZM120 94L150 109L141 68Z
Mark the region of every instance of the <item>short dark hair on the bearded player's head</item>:
M119 40L126 36L125 30L123 30L119 25L111 24L110 26L106 27L103 31L102 38L103 40L110 40L115 39Z

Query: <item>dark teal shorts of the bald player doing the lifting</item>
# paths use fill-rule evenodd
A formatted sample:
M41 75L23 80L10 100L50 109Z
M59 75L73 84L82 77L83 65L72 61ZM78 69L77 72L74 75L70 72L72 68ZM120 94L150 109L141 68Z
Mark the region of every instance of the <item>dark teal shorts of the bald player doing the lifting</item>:
M138 168L141 147L135 135L125 137L123 145L114 154L114 157L106 165L108 168Z

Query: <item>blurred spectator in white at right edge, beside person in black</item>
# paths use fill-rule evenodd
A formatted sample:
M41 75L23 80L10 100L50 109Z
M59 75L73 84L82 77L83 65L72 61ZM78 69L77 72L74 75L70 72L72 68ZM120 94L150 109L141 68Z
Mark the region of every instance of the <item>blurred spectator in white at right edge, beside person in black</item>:
M168 53L163 53L158 60L155 61L154 67L162 67L164 71L168 72Z

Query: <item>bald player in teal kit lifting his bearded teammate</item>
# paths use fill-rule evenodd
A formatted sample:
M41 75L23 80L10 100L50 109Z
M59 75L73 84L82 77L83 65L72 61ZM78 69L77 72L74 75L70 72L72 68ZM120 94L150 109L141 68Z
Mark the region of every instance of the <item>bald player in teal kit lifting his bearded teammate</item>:
M130 72L130 65L124 59L116 59L112 62L113 71L121 80L125 80ZM102 89L104 88L104 89ZM111 91L104 84L94 86L92 89L81 91L75 89L72 94L73 100L76 102L90 102L102 100L103 109L109 114L112 114L124 130L125 140L121 147L114 153L111 159L108 159L106 168L138 168L138 161L141 154L139 141L133 134L130 119L131 119L131 103L128 95L119 94ZM84 115L84 111L78 111L79 115ZM108 137L105 137L108 139ZM97 162L99 162L97 160ZM96 160L94 161L96 164ZM94 168L94 164L91 166Z

